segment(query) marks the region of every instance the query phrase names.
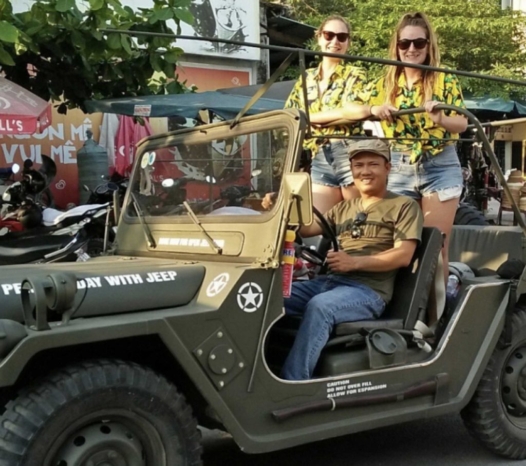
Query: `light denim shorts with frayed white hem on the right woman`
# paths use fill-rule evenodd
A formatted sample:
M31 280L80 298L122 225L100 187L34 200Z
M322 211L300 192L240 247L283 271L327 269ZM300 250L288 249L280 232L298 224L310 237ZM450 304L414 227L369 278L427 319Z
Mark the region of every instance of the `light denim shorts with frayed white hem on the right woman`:
M441 201L458 198L462 193L462 171L457 150L451 144L436 156L424 153L416 163L410 154L391 151L391 173L388 189L413 199L438 193Z

